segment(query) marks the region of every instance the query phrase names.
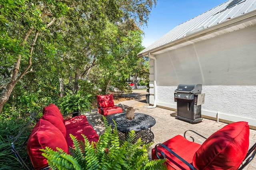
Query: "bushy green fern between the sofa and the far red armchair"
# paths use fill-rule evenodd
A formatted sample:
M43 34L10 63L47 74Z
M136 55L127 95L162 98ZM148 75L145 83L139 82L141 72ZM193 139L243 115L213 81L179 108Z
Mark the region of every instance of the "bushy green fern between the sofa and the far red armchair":
M68 90L68 94L61 99L60 108L64 113L90 111L91 96L91 94L83 94L82 90L78 90L76 94L73 94L71 90Z

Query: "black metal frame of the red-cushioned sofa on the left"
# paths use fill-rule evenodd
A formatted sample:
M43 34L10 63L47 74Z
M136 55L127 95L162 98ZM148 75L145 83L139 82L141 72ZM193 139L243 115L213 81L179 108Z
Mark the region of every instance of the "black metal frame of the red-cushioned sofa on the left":
M74 113L68 113L68 114L65 114L65 115L62 115L62 116L66 116L66 115L74 115L79 112L74 112ZM22 143L21 145L19 145L17 143L18 139L21 137L21 135L24 133L24 131L33 123L33 122L37 122L39 119L37 118L38 116L38 113L35 113L35 112L32 112L30 113L30 121L24 126L23 129L21 129L18 133L18 135L16 137L14 136L10 136L10 139L12 139L12 143L11 143L11 148L12 148L12 152L15 154L17 160L20 162L20 164L22 165L22 167L25 169L25 170L34 170L33 166L31 166L29 168L29 166L26 164L26 162L31 162L30 161L30 158L28 156L28 154L26 155L25 158L22 158L22 156L20 156L20 152L22 151L22 149L24 149L24 147L26 147L26 144L28 142L28 138L29 136L26 138L26 140L24 141L24 143ZM18 149L19 147L19 149ZM50 167L46 167L46 168L43 168L41 170L50 170L51 168Z

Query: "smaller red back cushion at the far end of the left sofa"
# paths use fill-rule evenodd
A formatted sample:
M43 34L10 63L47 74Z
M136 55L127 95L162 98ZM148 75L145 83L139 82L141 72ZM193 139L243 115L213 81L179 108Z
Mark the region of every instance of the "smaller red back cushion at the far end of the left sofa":
M43 109L43 115L41 119L47 120L52 123L58 129L60 129L63 136L66 137L66 127L63 123L63 117L56 105L50 104L49 106L45 107Z

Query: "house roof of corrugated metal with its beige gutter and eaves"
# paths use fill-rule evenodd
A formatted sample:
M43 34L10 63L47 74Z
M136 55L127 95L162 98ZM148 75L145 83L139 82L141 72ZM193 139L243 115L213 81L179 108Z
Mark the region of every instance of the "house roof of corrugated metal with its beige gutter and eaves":
M238 3L230 6L234 2ZM256 0L228 0L177 25L138 53L138 57L163 53L251 25L256 25Z

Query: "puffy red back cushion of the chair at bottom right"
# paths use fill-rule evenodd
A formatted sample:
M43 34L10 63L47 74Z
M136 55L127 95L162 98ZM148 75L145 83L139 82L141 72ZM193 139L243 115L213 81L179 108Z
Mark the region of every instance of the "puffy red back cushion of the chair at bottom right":
M236 170L249 147L249 126L240 121L212 134L196 151L193 165L200 170Z

